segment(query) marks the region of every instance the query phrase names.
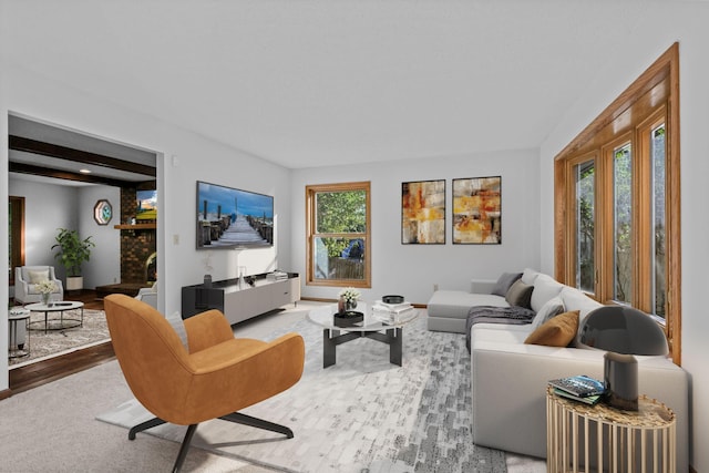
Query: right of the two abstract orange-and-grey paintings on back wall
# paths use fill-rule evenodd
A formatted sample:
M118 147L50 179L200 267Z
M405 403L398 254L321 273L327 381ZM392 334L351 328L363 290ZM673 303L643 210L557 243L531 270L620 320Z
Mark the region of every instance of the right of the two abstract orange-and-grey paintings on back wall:
M453 244L502 243L502 177L453 179Z

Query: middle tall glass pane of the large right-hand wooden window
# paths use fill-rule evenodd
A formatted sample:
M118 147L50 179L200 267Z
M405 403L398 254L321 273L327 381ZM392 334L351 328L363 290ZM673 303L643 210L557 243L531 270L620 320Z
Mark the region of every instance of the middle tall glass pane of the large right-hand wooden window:
M633 169L630 144L614 150L614 295L620 302L633 297Z

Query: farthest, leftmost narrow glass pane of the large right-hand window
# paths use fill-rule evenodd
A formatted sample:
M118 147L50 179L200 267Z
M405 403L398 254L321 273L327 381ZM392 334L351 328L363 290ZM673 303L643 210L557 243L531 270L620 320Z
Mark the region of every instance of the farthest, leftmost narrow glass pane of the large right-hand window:
M596 166L593 161L574 168L576 174L576 287L595 292L596 265L594 260L595 238L595 181Z

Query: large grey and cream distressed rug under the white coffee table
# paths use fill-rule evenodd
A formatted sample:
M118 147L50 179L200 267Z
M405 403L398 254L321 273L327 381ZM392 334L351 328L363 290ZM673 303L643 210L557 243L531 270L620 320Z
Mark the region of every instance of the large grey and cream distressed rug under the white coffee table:
M213 420L199 424L193 448L284 472L506 472L504 452L471 438L463 335L430 332L421 317L404 328L403 367L389 363L388 346L358 339L323 369L321 329L301 320L268 339L288 331L306 341L302 379L242 412L287 425L295 438ZM134 399L97 417L123 428L151 418ZM185 429L143 434L182 442Z

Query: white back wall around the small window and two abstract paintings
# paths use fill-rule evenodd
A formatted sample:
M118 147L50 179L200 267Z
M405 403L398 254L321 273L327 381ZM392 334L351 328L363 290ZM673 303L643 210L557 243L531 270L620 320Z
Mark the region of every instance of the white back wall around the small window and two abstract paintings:
M292 172L292 270L305 281L305 186L371 182L372 288L363 299L401 294L425 304L440 289L470 288L471 278L540 266L537 151L503 151L456 157L318 167ZM452 244L452 179L502 176L502 244ZM445 179L446 244L401 244L401 183ZM304 286L304 297L336 298L339 288Z

